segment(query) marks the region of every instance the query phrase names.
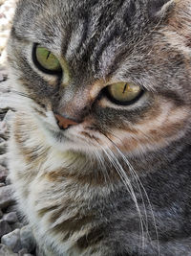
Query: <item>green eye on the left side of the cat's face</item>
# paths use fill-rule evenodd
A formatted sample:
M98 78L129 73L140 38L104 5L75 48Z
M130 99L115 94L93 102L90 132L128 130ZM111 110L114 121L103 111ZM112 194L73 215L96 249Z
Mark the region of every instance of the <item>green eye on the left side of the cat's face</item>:
M38 67L45 73L56 74L62 71L59 60L48 49L36 46L34 54Z

